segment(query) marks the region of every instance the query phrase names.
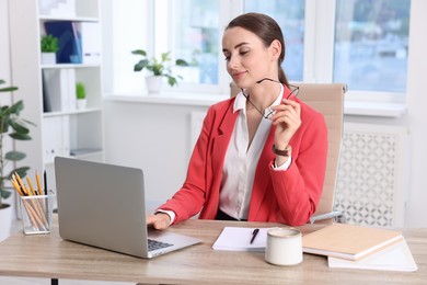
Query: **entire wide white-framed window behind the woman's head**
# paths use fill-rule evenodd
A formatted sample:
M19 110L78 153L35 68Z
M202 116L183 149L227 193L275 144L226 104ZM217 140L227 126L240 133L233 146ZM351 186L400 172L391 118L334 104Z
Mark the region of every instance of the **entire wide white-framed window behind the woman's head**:
M114 1L113 13L120 11L117 9L119 5L129 5L128 2L123 2ZM286 43L284 70L290 81L345 82L349 87L346 98L351 100L356 98L388 102L404 100L411 0L131 0L131 2L146 3L146 9L139 13L138 20L141 23L141 19L145 19L143 29L140 30L147 30L148 36L138 39L141 42L138 47L151 54L171 50L174 58L184 58L191 62L191 67L174 69L183 79L178 81L178 87L168 91L197 92L197 95L228 94L231 79L226 71L221 53L223 29L238 14L261 12L274 18L284 31ZM134 23L130 19L124 21ZM134 24L131 27L132 31L137 31L139 25ZM135 36L127 41L123 33L116 34L119 34L122 41L119 43L113 41L115 46L136 41ZM115 37L117 35L114 35ZM131 57L131 49L128 49L126 56L134 64L135 57ZM113 66L112 72L117 76L112 75L112 80L122 78L122 82L118 83L126 82L129 86L136 82L134 78L141 77L131 75L132 66L128 64L129 58L113 58L113 62L119 62L122 68L124 62L127 62L128 73ZM114 86L120 86L118 83L115 82ZM129 88L128 86L126 87Z

